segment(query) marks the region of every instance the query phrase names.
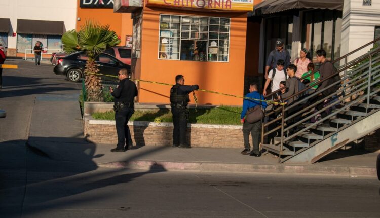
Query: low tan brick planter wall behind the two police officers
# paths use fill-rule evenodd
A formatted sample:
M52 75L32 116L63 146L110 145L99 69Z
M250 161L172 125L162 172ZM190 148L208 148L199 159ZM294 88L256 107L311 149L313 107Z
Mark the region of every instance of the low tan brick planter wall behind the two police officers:
M95 143L116 144L115 121L85 117L84 132L87 140ZM132 140L139 146L171 146L172 123L146 121L128 122ZM250 138L251 140L251 138ZM187 143L193 147L244 148L242 126L188 124ZM252 142L250 141L252 146Z

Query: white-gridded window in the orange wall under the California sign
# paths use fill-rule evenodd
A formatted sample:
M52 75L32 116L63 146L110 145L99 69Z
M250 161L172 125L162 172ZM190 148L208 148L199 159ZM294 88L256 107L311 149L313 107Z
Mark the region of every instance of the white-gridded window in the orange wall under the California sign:
M159 40L159 59L226 62L230 18L161 15Z

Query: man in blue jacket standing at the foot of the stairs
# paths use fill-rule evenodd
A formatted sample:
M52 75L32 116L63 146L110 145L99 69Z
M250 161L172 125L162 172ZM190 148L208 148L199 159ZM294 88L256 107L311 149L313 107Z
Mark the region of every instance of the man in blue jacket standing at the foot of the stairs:
M264 96L258 93L258 85L252 83L249 86L249 93L246 95L248 98L254 99L264 99ZM243 155L250 155L260 157L261 152L259 151L259 138L261 133L261 120L255 123L248 123L244 116L247 114L248 110L252 110L255 106L261 105L263 109L267 108L267 102L256 101L256 100L243 100L243 111L240 115L240 122L243 124L243 137L244 137L244 150L241 152ZM249 134L252 136L252 152L250 151L249 146Z

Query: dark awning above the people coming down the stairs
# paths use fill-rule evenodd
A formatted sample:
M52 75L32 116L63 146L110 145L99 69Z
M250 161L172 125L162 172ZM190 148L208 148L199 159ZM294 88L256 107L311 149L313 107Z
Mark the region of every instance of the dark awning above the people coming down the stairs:
M266 0L255 5L248 17L301 8L343 11L343 2L344 0Z

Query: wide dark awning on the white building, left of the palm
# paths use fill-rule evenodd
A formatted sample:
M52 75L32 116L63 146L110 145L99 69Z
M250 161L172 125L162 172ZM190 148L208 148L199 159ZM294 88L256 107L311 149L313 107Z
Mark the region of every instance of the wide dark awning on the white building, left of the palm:
M63 21L17 19L17 33L63 35L65 32Z

